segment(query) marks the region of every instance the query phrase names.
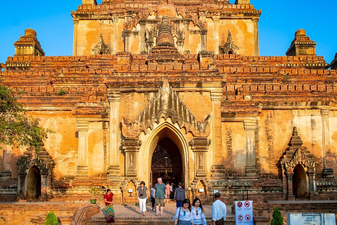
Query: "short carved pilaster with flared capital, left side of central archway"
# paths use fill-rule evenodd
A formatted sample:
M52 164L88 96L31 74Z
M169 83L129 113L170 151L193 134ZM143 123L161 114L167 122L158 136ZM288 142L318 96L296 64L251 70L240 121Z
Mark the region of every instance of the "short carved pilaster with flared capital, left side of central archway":
M121 144L125 151L126 176L136 178L138 171L138 152L142 141L135 138L125 138Z

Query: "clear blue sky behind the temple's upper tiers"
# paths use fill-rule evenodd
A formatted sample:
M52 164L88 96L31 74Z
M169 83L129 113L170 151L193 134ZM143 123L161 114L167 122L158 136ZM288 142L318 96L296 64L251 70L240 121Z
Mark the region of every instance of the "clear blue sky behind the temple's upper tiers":
M337 52L336 0L321 3L316 0L250 2L256 9L262 9L259 21L260 55L285 55L296 30L302 28L311 40L317 42L317 55L324 56L328 63L332 61ZM70 10L76 10L81 3L82 0L17 0L10 10L3 8L0 14L0 62L14 55L13 42L19 40L27 28L37 32L46 55L72 55Z

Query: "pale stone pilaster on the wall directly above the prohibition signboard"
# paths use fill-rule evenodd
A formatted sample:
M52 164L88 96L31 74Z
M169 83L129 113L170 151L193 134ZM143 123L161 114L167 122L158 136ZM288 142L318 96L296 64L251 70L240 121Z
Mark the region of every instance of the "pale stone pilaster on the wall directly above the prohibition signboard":
M243 121L246 136L246 176L257 176L255 163L255 129L256 120Z

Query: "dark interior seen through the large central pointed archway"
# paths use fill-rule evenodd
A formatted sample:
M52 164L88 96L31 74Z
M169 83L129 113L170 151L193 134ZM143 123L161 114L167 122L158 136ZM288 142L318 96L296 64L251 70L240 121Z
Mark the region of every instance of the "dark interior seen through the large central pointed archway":
M177 145L167 136L161 139L152 154L151 161L151 188L157 183L157 178L161 177L163 183L174 183L174 188L178 187L178 182L183 183L182 157ZM171 198L173 196L171 195Z

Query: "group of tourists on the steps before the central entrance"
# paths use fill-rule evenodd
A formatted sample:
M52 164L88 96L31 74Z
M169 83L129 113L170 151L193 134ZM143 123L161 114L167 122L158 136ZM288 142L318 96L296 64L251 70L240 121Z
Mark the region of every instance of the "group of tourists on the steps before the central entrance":
M152 211L155 209L156 215L163 215L163 209L165 206L165 199L168 199L170 194L173 193L173 185L169 182L166 185L159 177L157 183L151 188L151 194L148 188L145 186L145 182L141 181L140 186L136 190L136 196L139 200L139 207L141 215L145 216L146 212L146 200L149 198L152 204ZM191 204L188 198L185 198L185 190L182 188L182 183L178 183L178 188L174 192L174 201L176 202L177 210L173 217L175 225L206 225L206 216L204 208L199 198L195 198ZM226 205L220 198L219 192L214 194L215 201L212 204L212 222L213 225L223 225L226 219ZM115 213L112 207L114 201L114 194L110 189L106 190L104 195L105 202L105 219L108 224L115 222ZM166 204L168 203L168 200Z

